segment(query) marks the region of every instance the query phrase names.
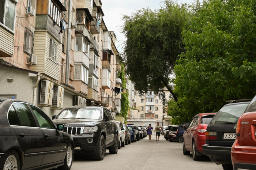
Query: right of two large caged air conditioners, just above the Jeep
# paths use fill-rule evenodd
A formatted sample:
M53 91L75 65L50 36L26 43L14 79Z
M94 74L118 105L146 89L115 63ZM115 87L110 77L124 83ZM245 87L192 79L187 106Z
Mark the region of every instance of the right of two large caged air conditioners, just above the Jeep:
M61 86L53 86L52 107L62 109L63 96L64 96L64 88Z

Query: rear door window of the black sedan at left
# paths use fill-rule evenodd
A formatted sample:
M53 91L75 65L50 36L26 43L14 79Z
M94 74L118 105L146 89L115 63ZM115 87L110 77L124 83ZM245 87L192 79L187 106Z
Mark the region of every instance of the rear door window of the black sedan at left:
M33 114L31 113L29 106L25 103L14 103L13 104L22 126L37 127Z

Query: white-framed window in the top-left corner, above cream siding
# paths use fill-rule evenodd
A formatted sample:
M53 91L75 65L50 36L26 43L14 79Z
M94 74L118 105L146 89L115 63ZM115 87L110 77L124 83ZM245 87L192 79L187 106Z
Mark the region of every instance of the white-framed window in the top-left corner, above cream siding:
M0 0L0 23L14 31L16 3L12 0Z

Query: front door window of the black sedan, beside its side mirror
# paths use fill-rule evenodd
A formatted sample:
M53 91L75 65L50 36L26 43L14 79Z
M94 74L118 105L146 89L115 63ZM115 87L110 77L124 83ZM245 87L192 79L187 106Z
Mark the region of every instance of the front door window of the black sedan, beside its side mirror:
M53 122L41 109L32 105L30 105L30 107L34 112L35 117L37 118L40 128L55 129Z

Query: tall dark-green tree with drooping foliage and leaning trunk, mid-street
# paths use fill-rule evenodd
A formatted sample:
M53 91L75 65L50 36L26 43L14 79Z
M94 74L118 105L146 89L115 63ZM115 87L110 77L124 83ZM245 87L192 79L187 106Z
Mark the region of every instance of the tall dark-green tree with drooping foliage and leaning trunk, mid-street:
M124 64L135 89L140 95L153 90L164 98L166 87L177 102L169 82L178 55L184 51L181 33L188 26L187 5L165 0L159 10L141 9L123 20Z

